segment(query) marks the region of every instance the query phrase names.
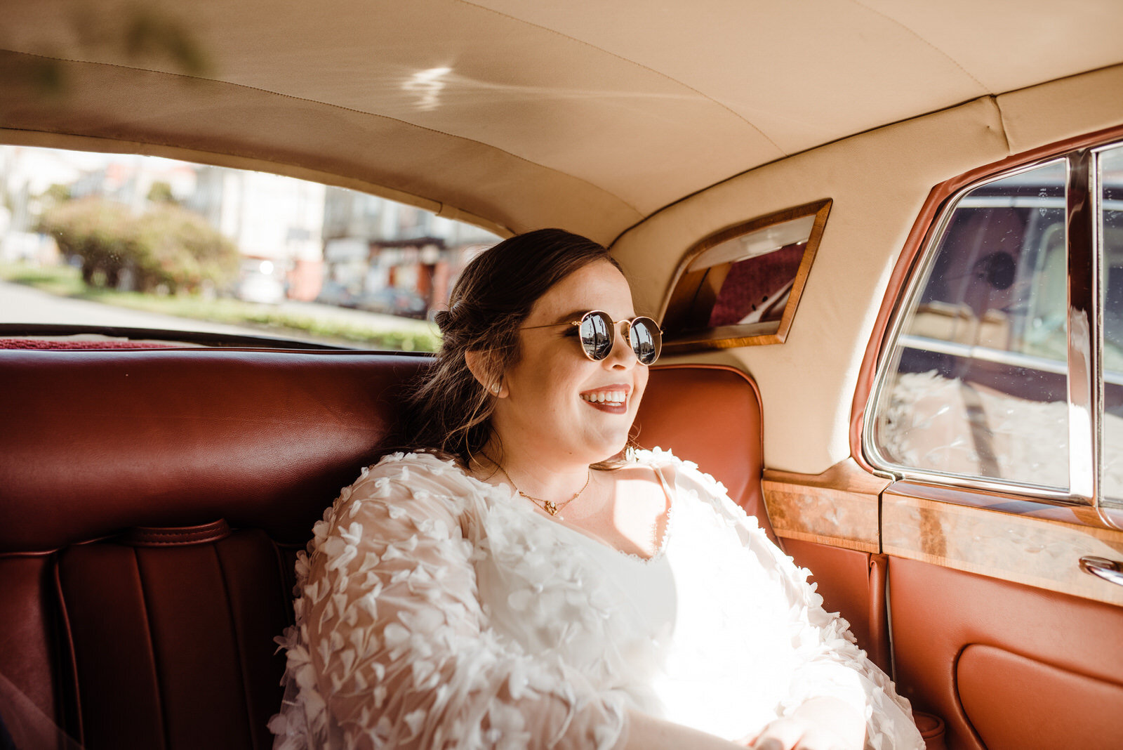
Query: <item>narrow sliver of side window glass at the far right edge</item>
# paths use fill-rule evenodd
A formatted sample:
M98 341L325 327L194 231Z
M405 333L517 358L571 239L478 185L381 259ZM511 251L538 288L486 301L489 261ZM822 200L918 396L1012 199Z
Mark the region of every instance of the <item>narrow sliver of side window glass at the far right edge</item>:
M1103 494L1123 501L1123 147L1099 153L1104 332Z

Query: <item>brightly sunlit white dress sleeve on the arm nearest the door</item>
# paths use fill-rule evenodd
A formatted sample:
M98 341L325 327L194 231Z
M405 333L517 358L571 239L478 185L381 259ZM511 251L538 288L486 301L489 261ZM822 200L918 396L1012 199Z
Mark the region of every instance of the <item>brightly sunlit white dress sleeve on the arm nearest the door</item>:
M797 666L780 706L783 714L814 697L840 698L865 716L866 748L923 750L924 741L913 723L909 701L897 695L889 677L858 648L850 624L838 613L823 610L823 597L807 582L810 571L796 566L773 543L756 518L729 499L721 483L690 461L673 457L670 460L675 470L694 485L699 496L737 528L743 547L765 567L786 600Z

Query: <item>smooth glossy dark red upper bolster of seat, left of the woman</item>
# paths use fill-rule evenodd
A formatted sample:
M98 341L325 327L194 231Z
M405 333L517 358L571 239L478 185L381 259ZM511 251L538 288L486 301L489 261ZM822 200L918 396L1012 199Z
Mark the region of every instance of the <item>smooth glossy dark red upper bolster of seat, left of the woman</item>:
M0 351L0 552L225 518L302 545L423 357Z

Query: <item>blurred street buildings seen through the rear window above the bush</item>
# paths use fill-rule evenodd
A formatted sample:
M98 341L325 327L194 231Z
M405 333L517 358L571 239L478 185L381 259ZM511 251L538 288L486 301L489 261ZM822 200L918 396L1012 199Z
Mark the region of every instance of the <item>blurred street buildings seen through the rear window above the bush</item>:
M53 200L52 185L70 198L119 201L136 213L163 193L234 241L243 256L234 291L244 299L319 300L424 317L448 299L475 253L499 240L411 205L292 177L137 155L81 157L0 148L4 257L42 255L25 246L29 238L48 240L34 228Z

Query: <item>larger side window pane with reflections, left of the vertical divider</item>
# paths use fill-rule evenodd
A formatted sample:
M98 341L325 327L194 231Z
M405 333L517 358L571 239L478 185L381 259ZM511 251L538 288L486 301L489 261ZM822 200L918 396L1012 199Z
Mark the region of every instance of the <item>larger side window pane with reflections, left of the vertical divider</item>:
M1065 180L1058 161L955 204L887 360L884 463L1068 486Z

